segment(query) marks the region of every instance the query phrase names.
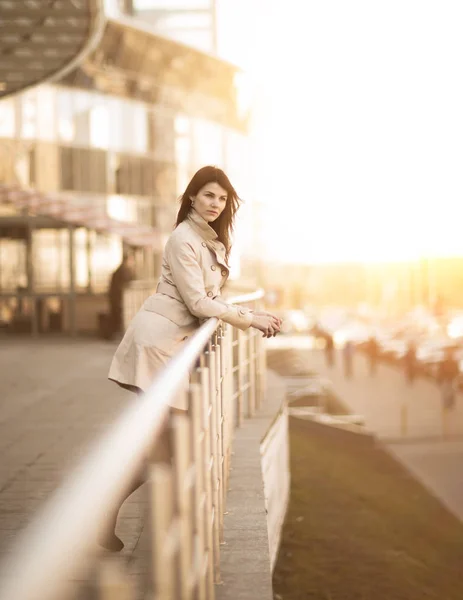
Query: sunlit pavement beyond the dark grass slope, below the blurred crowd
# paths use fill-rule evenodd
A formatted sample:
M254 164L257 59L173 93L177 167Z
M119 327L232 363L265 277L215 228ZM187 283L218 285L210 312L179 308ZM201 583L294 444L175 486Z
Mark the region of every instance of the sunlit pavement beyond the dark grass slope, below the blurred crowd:
M307 366L329 378L352 412L362 414L384 447L458 518L463 520L463 398L442 409L436 384L423 378L410 386L399 367L379 365L371 376L363 355L346 379L342 356L328 367L323 352L304 353Z

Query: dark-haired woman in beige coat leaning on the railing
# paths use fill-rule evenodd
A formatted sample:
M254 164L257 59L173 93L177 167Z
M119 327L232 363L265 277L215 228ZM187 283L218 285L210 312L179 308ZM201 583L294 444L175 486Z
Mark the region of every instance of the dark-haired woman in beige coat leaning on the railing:
M193 176L165 246L156 293L130 323L114 355L109 379L136 393L145 391L159 369L210 317L242 330L254 327L264 337L280 331L277 317L220 298L229 274L231 234L238 207L238 195L221 169L207 166ZM171 401L172 410L186 412L187 401L186 394L179 394ZM168 457L168 440L162 443L167 446L163 454ZM142 482L138 478L129 494ZM114 551L123 547L114 533L116 519L117 512L100 541Z

